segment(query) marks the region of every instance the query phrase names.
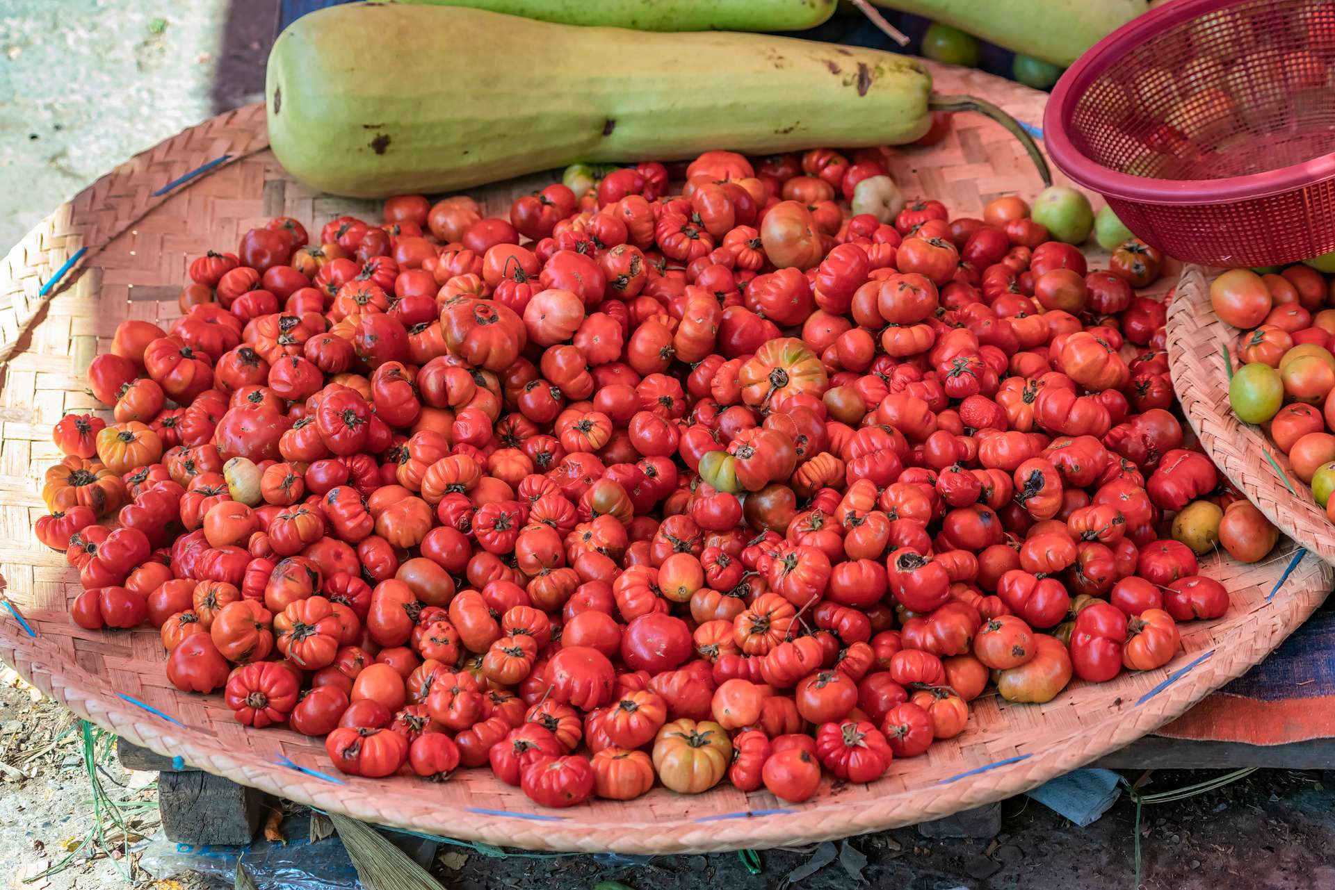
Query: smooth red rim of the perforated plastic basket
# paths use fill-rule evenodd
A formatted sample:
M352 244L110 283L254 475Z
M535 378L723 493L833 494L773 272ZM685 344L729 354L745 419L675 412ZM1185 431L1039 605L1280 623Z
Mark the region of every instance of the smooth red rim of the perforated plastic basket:
M1147 37L1188 19L1235 5L1236 0L1173 0L1113 31L1075 61L1057 81L1043 113L1043 141L1052 161L1076 184L1104 196L1145 204L1243 201L1303 188L1335 176L1335 152L1300 164L1220 179L1151 179L1104 167L1067 135L1076 103L1108 67Z

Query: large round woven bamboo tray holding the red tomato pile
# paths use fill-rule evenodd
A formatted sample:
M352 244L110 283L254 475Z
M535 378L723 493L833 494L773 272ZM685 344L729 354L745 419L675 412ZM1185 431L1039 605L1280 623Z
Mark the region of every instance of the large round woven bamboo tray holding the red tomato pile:
M1029 125L1041 120L1043 93L977 72L934 67L933 73L941 92L989 99ZM266 144L258 105L188 129L61 207L0 268L0 572L13 608L0 607L0 658L73 713L136 745L358 819L494 845L623 853L770 847L948 815L1123 747L1258 663L1331 587L1331 570L1288 542L1256 566L1214 559L1206 571L1228 587L1228 615L1185 624L1184 651L1167 667L1076 683L1044 706L983 698L959 738L897 761L874 785L826 787L804 805L725 785L697 797L658 789L630 803L545 810L487 770L463 770L442 785L338 775L322 741L246 730L220 697L178 693L166 679L155 631L75 627L67 607L77 576L31 531L43 511L37 479L56 459L51 424L93 407L83 372L119 322L171 322L187 262L210 247L231 247L268 216L310 224L378 212L294 183ZM893 175L906 195L944 199L959 215L980 215L1003 192L1032 197L1041 188L1020 145L976 115L959 115L945 143L905 151ZM550 180L529 177L479 197L505 213L515 193Z

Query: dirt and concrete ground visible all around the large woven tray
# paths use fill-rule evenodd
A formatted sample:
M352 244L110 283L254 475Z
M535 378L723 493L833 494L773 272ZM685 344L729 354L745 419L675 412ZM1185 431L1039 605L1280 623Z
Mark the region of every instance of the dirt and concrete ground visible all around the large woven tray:
M0 3L0 181L8 185L0 188L0 248L131 153L254 100L276 9L278 0ZM158 831L156 777L127 773L115 757L97 770L128 819L129 861L79 855L63 871L24 883L79 849L95 822L93 793L77 722L0 666L0 886L123 887L123 873L155 890L231 886L230 879L182 869L144 873L140 854ZM1215 775L1161 771L1140 790L1163 791ZM1003 805L995 838L929 841L901 829L846 845L764 851L758 874L730 853L627 862L491 858L453 846L441 847L433 871L458 890L591 887L598 881L635 890L778 890L802 871L808 874L793 883L810 890L1112 890L1136 886L1135 833L1136 805L1127 795L1088 829L1021 797ZM1332 846L1335 775L1262 770L1220 790L1145 806L1140 886L1335 887ZM822 861L828 863L813 867ZM256 878L262 887L300 886L296 875Z

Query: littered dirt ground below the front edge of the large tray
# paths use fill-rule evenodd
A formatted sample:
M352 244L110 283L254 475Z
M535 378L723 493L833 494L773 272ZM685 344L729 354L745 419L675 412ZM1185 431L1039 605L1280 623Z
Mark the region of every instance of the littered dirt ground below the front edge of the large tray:
M143 849L158 833L154 774L121 770L115 757L100 766L108 794L132 819L129 862L96 854L79 857L49 878L23 883L60 862L93 825L92 791L77 723L60 706L40 701L12 673L0 673L0 881L21 890L103 889L134 885L154 890L231 886L216 871L143 869ZM67 730L69 730L67 733ZM64 735L63 735L64 734ZM1140 791L1180 789L1219 771L1156 771ZM1125 773L1128 781L1140 775ZM134 809L134 807L139 809ZM1019 890L1076 886L1136 887L1136 805L1128 795L1087 829L1024 797L1003 803L1001 831L992 838L926 839L914 829L853 838L838 845L760 853L753 874L734 853L655 857L506 858L442 845L431 866L451 890L545 890L591 887L621 881L634 890L808 890L836 887L924 887L926 890ZM299 822L294 819L292 822ZM115 830L112 837L119 837ZM296 831L288 829L288 838ZM1149 890L1308 890L1335 887L1328 850L1335 846L1335 774L1259 770L1222 789L1184 801L1147 805L1140 818L1140 885ZM332 847L331 857L342 858ZM178 861L180 862L180 861ZM812 866L826 862L822 867ZM154 865L150 861L150 865ZM131 869L132 866L132 869ZM117 870L119 869L119 870ZM344 873L346 873L344 867ZM259 886L291 887L263 870ZM334 885L347 886L347 885ZM314 889L312 889L314 890Z

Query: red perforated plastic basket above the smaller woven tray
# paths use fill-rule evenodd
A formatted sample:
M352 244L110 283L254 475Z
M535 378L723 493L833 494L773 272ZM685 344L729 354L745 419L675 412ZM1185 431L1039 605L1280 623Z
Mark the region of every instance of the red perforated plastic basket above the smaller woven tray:
M1177 0L1099 41L1044 141L1137 236L1210 266L1335 250L1335 3Z

